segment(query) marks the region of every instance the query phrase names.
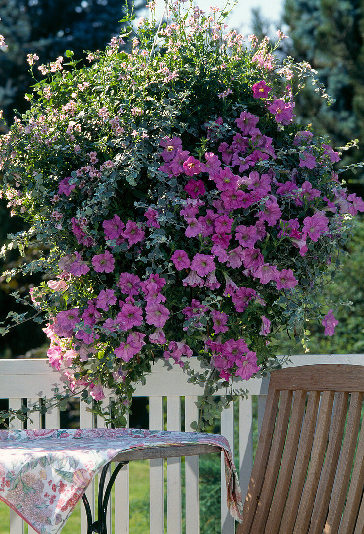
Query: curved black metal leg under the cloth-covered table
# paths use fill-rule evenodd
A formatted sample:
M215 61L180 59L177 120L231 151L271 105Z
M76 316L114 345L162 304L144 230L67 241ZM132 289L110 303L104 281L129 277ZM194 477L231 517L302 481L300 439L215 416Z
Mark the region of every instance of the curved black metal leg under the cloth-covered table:
M110 480L106 486L106 490L104 492L105 488L105 482L106 482L106 476L108 472L108 468L110 467L110 463L106 464L101 471L100 481L99 481L99 490L98 490L98 496L97 496L97 521L92 522L92 514L91 514L91 507L89 504L88 498L83 494L82 501L85 506L86 511L86 518L87 518L87 534L92 534L92 532L97 532L97 534L107 534L107 521L106 521L106 515L107 515L107 505L110 498L110 493L112 490L112 487L115 482L115 478L117 477L120 470L123 468L125 464L128 464L129 462L119 462L112 475L110 476Z

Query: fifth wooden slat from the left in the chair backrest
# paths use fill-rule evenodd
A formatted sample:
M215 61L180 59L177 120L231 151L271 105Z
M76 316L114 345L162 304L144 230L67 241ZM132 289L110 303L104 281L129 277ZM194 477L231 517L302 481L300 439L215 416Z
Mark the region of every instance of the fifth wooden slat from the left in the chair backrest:
M311 453L311 462L310 467L308 468L307 479L298 510L294 534L303 534L304 532L307 532L308 526L310 525L316 491L320 481L323 460L325 458L334 398L334 391L324 391L322 394L318 424Z

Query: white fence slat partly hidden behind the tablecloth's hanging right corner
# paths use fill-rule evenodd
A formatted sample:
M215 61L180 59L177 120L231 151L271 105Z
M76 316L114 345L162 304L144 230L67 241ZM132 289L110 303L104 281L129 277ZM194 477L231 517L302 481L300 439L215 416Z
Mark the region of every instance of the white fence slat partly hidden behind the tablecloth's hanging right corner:
M221 436L229 442L234 458L234 403L221 412ZM235 521L226 504L225 461L221 454L221 534L235 534Z

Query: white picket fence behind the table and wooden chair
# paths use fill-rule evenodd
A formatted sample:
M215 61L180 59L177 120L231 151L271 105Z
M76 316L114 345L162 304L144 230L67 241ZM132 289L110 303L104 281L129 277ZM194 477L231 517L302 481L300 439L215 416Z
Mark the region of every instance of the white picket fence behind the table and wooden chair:
M364 365L364 355L304 355L291 357L292 365L309 365L317 363L350 363ZM196 371L201 370L198 362L193 362ZM262 423L265 400L268 389L268 378L236 381L235 388L249 390L247 399L240 399L239 406L231 405L221 414L221 434L230 443L235 452L235 463L240 467L240 483L242 494L248 487L253 459L253 418L257 417L258 434ZM59 377L47 360L44 359L7 359L0 360L0 398L9 398L12 408L20 407L24 399L28 403L38 403L39 399L52 396L52 389L59 385ZM185 430L190 430L191 423L197 418L195 402L202 395L202 388L187 382L187 375L176 365L171 366L164 360L156 362L153 371L147 376L146 384L137 386L134 396L149 399L149 428L163 428L163 398L167 398L167 429L180 430L181 399L184 398ZM252 413L252 398L257 396L257 415ZM106 402L106 401L104 401ZM109 402L107 400L107 402ZM164 403L165 404L165 403ZM234 409L239 409L239 417L234 417ZM32 416L33 417L33 416ZM238 423L237 423L238 421ZM94 427L93 414L86 411L86 405L80 406L80 428ZM239 429L236 429L236 424ZM103 420L96 421L103 426ZM41 428L41 417L34 420L32 428ZM19 428L20 422L12 423ZM28 426L29 428L29 426ZM53 410L45 415L45 428L59 428L59 412ZM239 451L234 451L234 433L239 434ZM221 464L222 465L222 464ZM186 458L186 534L200 533L200 488L199 458ZM228 514L226 506L225 480L221 480L221 534L234 534L235 522ZM130 481L132 484L133 481ZM167 460L167 511L164 511L164 473L163 460L150 460L150 532L163 534L164 514L167 514L168 534L181 534L181 460ZM87 490L88 498L94 502L94 485ZM115 514L109 513L109 533L129 534L129 470L125 466L115 483ZM81 534L86 532L86 517L81 507ZM140 511L143 513L143 511ZM3 525L2 525L3 526ZM2 531L4 532L4 531ZM20 517L10 511L10 534L23 534L24 525ZM28 528L28 534L34 534ZM75 533L76 534L76 533ZM133 533L131 533L133 534Z

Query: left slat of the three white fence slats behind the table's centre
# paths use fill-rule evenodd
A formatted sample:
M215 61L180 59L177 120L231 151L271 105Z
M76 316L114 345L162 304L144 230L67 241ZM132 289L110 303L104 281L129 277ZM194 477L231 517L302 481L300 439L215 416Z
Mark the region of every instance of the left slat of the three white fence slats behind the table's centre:
M149 398L149 428L151 430L163 429L163 397ZM154 532L163 532L164 528L163 460L156 458L149 462L150 532L154 534Z

